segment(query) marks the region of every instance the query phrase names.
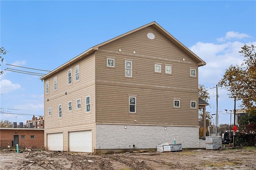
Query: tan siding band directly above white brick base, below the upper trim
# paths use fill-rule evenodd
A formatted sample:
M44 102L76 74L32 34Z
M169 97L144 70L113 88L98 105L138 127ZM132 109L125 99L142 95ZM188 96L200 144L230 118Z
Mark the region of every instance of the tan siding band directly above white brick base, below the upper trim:
M136 113L128 113L129 95L136 95ZM180 100L180 108L173 107L174 99ZM197 99L197 91L97 84L96 123L197 126L198 110L190 108Z

